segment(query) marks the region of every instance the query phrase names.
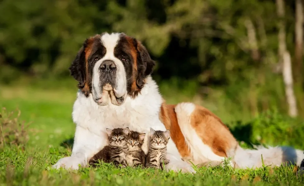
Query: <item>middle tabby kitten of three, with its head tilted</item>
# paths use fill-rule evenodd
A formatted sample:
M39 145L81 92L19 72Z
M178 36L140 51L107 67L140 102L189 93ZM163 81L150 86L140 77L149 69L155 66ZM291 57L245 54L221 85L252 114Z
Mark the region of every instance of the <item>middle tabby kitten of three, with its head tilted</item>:
M145 166L145 153L141 149L144 143L145 133L140 134L136 131L130 131L127 136L126 162L128 166Z

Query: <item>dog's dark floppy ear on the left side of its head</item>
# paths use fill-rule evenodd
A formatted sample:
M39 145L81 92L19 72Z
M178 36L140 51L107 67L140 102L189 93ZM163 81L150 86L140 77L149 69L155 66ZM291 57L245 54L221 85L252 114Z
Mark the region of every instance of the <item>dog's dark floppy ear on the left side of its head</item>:
M78 51L74 61L69 67L71 75L76 79L78 83L78 88L83 89L86 82L86 72L85 72L85 47L87 46L88 39L83 42L83 46Z

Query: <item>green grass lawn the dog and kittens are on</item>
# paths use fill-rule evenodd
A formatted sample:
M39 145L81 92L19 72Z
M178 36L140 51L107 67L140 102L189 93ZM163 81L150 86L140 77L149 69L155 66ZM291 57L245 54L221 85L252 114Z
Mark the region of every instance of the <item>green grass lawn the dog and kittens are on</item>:
M1 185L303 185L304 177L297 177L294 166L258 170L201 167L196 168L195 175L116 169L110 164L78 171L53 170L51 166L55 162L71 154L75 130L71 112L75 96L76 88L64 86L0 86L0 107L8 111L19 108L21 120L31 122L25 146L1 147ZM266 113L251 122L231 123L230 127L245 146L249 141L266 141L304 149L300 138L304 137L303 121L290 121L277 113ZM296 135L300 137L295 138Z

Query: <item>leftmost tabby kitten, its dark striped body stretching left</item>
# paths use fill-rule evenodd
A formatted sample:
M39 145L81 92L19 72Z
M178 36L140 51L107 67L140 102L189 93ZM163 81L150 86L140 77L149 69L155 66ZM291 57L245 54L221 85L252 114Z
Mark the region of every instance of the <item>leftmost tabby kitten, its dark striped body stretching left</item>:
M115 166L122 165L126 167L126 138L129 134L129 128L115 128L113 130L107 129L108 139L110 144L105 146L97 154L95 154L89 161L89 165L95 166L98 160L103 160L105 163L113 162Z

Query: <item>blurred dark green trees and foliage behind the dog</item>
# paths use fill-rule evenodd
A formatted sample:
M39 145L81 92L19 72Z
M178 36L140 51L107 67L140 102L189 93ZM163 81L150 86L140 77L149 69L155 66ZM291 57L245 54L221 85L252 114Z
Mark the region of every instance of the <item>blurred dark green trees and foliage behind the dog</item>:
M275 70L273 0L2 0L0 12L2 83L25 76L71 80L68 67L86 38L124 32L141 40L157 61L154 78L164 95L178 91L236 119L273 108L287 113L282 74ZM293 60L294 1L285 1L285 12ZM248 22L256 33L257 57L248 41ZM301 116L304 70L293 66L300 74L294 89Z

